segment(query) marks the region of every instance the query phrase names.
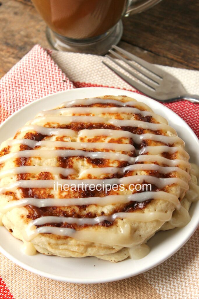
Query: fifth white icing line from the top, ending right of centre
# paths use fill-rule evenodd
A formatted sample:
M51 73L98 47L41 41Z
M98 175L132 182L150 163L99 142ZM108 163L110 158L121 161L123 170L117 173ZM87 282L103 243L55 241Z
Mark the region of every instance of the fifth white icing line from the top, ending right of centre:
M74 149L109 149L115 151L130 152L134 151L135 147L131 144L117 144L105 142L67 142L67 141L35 141L31 139L12 139L4 141L3 147L13 146L16 144L25 144L29 147L65 147Z

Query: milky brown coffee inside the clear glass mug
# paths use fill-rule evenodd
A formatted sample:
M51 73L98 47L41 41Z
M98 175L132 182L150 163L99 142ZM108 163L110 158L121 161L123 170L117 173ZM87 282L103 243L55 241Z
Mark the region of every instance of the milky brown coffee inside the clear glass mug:
M49 28L71 38L107 32L121 18L127 0L32 0Z

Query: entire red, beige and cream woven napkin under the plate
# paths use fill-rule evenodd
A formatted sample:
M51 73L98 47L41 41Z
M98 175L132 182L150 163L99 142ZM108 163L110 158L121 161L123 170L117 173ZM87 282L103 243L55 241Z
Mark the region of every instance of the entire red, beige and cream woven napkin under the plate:
M0 80L0 122L27 103L58 91L92 86L135 91L101 60L100 56L45 50L36 45ZM199 94L199 71L159 67L180 79L187 92ZM165 105L199 137L199 105L188 101ZM199 230L176 254L154 269L129 279L95 285L40 277L0 254L0 299L196 299L198 248Z

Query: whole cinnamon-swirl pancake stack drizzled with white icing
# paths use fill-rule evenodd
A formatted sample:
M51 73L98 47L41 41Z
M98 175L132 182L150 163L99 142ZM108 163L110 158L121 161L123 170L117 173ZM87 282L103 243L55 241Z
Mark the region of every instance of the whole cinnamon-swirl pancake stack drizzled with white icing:
M24 251L118 262L186 225L197 168L165 118L126 96L71 100L1 144L2 224Z

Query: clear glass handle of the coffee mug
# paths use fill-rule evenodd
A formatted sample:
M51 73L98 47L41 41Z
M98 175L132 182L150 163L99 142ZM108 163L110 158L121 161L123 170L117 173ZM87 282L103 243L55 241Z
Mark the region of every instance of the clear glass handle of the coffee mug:
M162 0L141 0L136 3L136 0L130 0L125 15L129 16L129 14L141 13L160 1Z

